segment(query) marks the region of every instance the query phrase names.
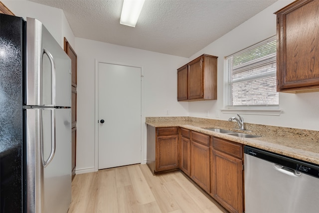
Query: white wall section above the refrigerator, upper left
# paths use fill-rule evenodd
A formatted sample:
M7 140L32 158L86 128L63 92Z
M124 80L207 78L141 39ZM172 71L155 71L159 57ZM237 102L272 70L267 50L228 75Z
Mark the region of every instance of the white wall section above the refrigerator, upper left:
M36 18L49 30L55 40L63 48L63 38L66 37L74 46L74 34L67 22L62 9L34 3L27 0L1 0L16 16Z

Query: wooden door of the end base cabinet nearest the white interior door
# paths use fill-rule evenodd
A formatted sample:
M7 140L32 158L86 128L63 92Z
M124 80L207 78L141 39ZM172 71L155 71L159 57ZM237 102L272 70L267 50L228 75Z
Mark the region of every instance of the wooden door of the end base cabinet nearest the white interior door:
M157 171L178 168L178 135L159 136L156 147Z

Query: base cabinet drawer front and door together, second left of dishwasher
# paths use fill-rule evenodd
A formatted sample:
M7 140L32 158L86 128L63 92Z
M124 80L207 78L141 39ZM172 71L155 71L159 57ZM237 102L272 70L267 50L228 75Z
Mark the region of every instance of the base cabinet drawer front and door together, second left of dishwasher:
M191 131L190 178L207 193L210 193L210 136Z

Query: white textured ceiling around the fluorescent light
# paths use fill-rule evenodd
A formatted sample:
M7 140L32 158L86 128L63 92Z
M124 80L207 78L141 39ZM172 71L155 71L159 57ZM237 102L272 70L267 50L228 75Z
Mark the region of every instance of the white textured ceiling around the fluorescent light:
M146 0L136 27L123 0L31 0L63 9L76 37L190 57L277 0Z

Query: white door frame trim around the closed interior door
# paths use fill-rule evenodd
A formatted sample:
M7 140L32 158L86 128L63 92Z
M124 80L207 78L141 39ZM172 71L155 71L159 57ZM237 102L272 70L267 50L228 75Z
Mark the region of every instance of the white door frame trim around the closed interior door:
M119 62L102 61L95 59L95 158L94 158L94 171L99 170L99 63L115 64L122 66L130 66L141 68L141 163L144 162L144 72L143 66L124 64Z

